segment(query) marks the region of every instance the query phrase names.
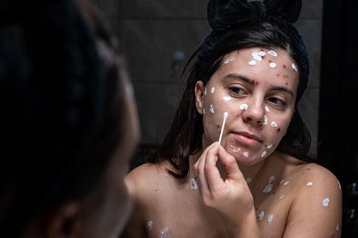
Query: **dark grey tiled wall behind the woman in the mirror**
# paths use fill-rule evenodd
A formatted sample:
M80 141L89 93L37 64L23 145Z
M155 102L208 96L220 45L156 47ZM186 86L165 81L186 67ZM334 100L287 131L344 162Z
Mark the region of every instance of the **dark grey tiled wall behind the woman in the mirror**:
M187 60L210 33L208 0L87 0L102 11L120 39L134 84L141 120L141 143L157 143L167 131L177 104L180 72L173 54ZM316 152L323 0L303 0L296 22L311 60L309 87L301 112ZM186 61L185 60L185 61Z

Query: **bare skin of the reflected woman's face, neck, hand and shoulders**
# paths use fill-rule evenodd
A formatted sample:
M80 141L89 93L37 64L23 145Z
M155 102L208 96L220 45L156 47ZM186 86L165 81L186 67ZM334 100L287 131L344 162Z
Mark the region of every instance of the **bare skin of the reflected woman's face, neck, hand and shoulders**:
M262 61L252 54L261 51ZM298 72L286 51L268 52L230 53L207 85L198 81L204 149L191 156L183 180L167 173L175 171L167 161L129 173L137 200L124 237L340 236L337 178L275 150L294 112ZM253 57L256 64L248 64ZM224 112L229 117L218 145Z

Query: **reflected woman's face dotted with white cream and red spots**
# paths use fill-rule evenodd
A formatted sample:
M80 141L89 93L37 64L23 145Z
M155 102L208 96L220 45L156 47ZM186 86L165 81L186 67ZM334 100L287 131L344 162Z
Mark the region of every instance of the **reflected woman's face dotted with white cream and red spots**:
M282 49L244 48L224 56L204 86L196 84L196 107L203 114L203 147L219 140L238 164L251 166L274 152L294 112L298 90L295 62Z

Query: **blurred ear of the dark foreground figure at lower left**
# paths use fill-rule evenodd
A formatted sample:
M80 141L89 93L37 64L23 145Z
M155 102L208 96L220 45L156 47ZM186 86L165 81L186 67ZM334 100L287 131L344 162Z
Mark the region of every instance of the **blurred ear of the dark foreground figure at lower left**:
M81 222L79 216L79 204L68 202L51 209L39 224L39 237L67 238L79 237Z

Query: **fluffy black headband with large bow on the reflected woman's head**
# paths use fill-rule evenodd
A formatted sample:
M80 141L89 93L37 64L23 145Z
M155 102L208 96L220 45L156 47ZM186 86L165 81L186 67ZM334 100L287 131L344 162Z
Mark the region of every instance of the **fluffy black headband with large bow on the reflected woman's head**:
M290 47L298 54L295 61L300 72L297 101L307 88L309 76L309 59L302 37L293 23L298 20L302 0L210 0L207 5L207 19L212 32L200 47L196 68L205 68L213 49L222 43L226 37L241 30L251 22L269 22L278 27L289 39Z

